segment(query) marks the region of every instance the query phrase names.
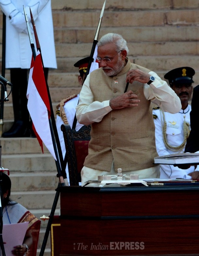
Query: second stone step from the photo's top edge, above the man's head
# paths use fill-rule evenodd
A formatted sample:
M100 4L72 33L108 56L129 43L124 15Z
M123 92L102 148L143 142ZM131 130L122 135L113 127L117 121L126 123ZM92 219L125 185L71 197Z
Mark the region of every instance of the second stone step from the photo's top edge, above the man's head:
M101 9L101 8L100 8ZM101 10L53 11L54 27L97 27ZM155 17L155 18L154 18ZM102 27L135 27L162 25L194 25L199 21L198 10L104 10Z

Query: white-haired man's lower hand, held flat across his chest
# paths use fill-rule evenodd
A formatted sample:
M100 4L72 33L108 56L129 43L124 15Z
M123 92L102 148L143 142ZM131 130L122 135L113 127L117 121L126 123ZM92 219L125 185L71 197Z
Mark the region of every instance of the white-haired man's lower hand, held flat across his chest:
M109 105L112 109L137 107L140 102L137 98L138 96L129 90L122 95L111 99Z

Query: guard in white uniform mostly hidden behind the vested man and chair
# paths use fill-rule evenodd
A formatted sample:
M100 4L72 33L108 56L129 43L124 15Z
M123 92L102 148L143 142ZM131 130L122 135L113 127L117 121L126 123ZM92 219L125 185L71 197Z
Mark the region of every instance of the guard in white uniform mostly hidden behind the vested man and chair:
M74 64L74 67L79 68L79 75L78 75L78 82L82 86L84 83L84 77L87 71L88 67L88 62L89 62L90 57L83 58L79 61L77 61ZM99 68L99 64L93 64L91 66L90 71L92 69ZM75 113L76 109L75 107L77 106L79 101L79 94L73 94L65 99L63 99L59 104L57 104L56 108L56 127L57 127L57 132L61 144L61 149L63 153L63 157L65 157L66 154L66 148L65 148L65 143L64 143L64 138L63 138L63 132L61 131L61 125L62 124L68 124L71 128L73 126L73 122L75 120ZM75 129L79 130L83 125L79 124L76 122ZM67 173L67 178L69 182L69 173L68 173L68 167L66 168L66 173Z

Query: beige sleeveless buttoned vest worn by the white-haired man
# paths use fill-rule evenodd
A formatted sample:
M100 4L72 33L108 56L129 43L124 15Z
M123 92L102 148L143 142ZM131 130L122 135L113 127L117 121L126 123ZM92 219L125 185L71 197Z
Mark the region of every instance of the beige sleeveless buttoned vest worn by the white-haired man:
M97 69L90 74L90 89L94 101L110 100L124 93L126 75L130 69L141 66L127 65L116 76L110 77ZM158 154L155 146L155 127L150 101L144 95L144 84L129 84L128 90L138 95L138 107L116 109L109 112L99 123L91 124L91 140L84 166L110 171L114 160L115 171L140 170L154 166Z

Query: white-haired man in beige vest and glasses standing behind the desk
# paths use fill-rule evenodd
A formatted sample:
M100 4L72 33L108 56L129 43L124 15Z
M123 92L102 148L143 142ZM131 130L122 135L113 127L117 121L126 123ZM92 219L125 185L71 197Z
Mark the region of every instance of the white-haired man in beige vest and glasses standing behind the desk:
M90 73L80 92L76 116L91 124L88 155L81 172L82 185L98 175L134 173L139 179L157 178L159 166L151 102L176 113L176 93L153 71L130 63L126 40L108 33L98 42L99 69ZM128 89L127 89L128 86Z

